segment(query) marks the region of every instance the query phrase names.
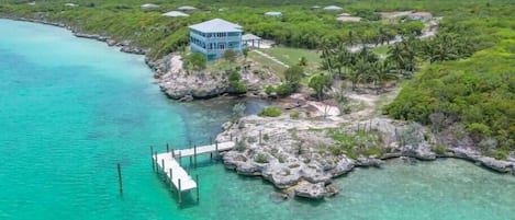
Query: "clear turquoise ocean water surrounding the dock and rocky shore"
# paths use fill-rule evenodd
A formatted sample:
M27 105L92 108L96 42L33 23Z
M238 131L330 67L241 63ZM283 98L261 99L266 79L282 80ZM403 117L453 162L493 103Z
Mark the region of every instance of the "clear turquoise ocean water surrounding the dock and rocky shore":
M179 209L149 144L208 142L232 102L180 104L153 82L142 56L0 20L0 219L515 219L515 177L458 160L358 169L314 202L277 201L270 184L204 159L201 202Z

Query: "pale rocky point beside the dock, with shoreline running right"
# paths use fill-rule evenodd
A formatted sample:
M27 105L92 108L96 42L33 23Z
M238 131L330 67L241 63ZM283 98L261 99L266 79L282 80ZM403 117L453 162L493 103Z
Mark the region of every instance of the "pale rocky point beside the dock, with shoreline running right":
M338 193L338 188L332 184L333 178L359 166L380 167L385 160L396 158L423 161L463 159L496 172L515 175L515 159L495 160L459 146L436 153L433 149L434 137L427 138L429 132L422 127L413 132L416 141L408 140L407 136L404 139L400 137L410 126L388 118L352 123L346 119L293 119L286 115L267 118L253 115L240 118L238 123L224 124L224 131L217 136L217 140L228 141L233 138L236 141L236 149L223 154L227 169L242 175L261 176L289 197L322 199L333 196ZM335 130L338 135L342 131L348 136L335 136ZM338 139L366 137L363 132L381 136L380 142L372 143L381 144L379 149L370 151L373 153L360 151L360 148L369 148L367 144L372 142L372 138L351 143L359 146L351 146L359 153L351 152L354 150L350 148L343 152L331 149L331 146L342 144Z

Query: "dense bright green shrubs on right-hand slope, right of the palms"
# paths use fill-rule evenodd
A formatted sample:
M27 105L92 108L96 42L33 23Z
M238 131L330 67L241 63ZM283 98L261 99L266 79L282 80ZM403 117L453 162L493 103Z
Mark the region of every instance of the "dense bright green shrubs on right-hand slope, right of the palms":
M452 18L443 33L467 36L477 51L468 59L456 59L452 39L436 37L447 46L433 47L446 56L422 53L434 62L407 83L398 99L385 107L395 118L433 125L439 132L452 128L459 139L468 134L486 153L503 158L515 150L515 20L512 8L484 8L481 16ZM458 46L459 47L459 46ZM435 49L440 48L440 49ZM433 56L429 56L432 55ZM500 155L501 154L501 155Z

